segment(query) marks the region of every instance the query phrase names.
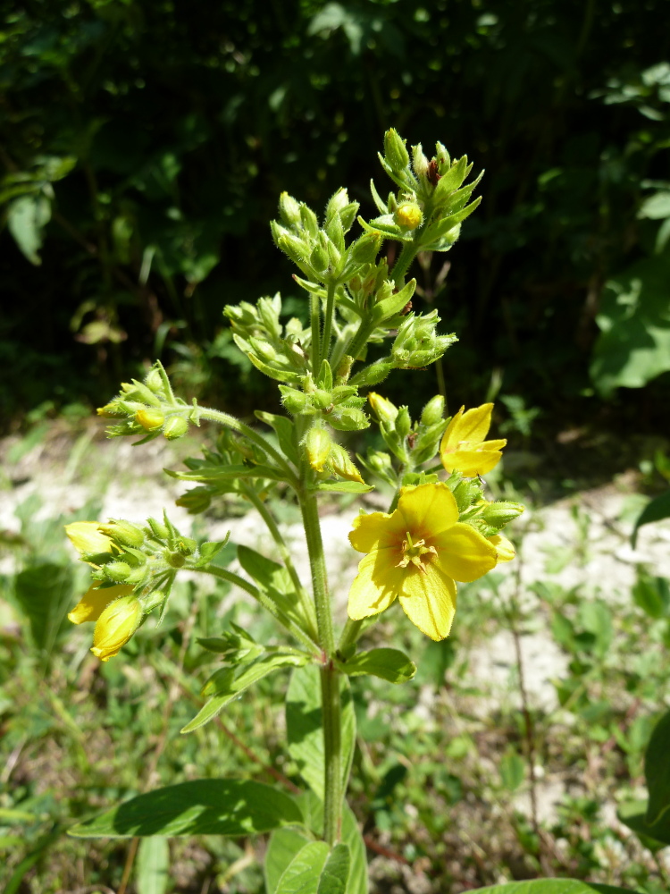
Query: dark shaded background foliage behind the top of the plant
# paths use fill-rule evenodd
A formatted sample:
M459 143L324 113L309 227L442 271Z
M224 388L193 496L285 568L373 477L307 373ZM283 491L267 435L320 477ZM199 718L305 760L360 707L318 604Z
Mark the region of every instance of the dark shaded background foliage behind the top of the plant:
M653 424L670 366L664 7L8 4L4 403L112 392L159 355L191 391L257 402L222 304L286 291L265 229L281 190L322 207L347 183L370 205L371 149L393 125L487 172L453 266L426 258L420 276L463 342L445 360L458 400L502 387L517 416L588 417L594 388L660 375Z

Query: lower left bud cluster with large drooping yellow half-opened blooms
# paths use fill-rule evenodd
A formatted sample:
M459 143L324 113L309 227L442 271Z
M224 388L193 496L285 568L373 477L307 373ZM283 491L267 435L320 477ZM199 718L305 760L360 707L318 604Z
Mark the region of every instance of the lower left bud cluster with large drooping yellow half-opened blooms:
M77 521L65 527L81 561L93 569L93 582L68 618L95 621L91 651L101 661L119 653L147 615L161 618L180 569L208 564L225 543L197 545L163 515L144 526L112 519L106 524Z

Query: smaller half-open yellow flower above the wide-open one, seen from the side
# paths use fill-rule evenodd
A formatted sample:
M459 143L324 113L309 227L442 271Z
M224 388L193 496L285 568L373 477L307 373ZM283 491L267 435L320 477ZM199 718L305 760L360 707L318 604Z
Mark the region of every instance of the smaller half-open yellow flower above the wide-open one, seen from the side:
M440 460L448 472L458 471L466 478L486 475L498 465L501 449L507 441L484 441L490 429L492 403L468 409L461 407L447 426L440 443Z

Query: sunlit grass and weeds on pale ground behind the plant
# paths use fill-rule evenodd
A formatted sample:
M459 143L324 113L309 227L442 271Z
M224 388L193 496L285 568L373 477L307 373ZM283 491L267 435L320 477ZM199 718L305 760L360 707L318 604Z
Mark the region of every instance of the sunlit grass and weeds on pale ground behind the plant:
M14 464L36 447L17 449ZM170 839L164 851L65 836L88 814L181 780L234 774L300 784L283 745L288 675L262 681L219 722L180 736L215 661L197 637L230 621L260 641L276 636L222 582L181 582L161 627L149 620L107 664L88 652L90 628L63 622L87 575L71 561L62 526L96 517L105 496L99 470L114 468L101 451L89 438L69 466L72 454L61 451L48 474L62 474L65 463L71 505L61 511L29 497L3 539L0 881L9 894L255 894L263 839ZM158 460L139 478L124 473L140 502L155 486ZM516 493L510 479L493 486ZM598 588L594 557L616 563L627 520L610 519L615 530L603 535L589 505L575 498L558 538L542 531L542 513L524 520L521 560L461 588L455 633L444 643L428 642L397 605L369 632L365 645L396 645L419 665L404 686L352 679L358 746L349 798L373 890L456 894L539 875L667 890L663 852L616 820L619 803L644 797L644 748L670 700L663 584L654 569L633 568L632 583L624 575L615 589ZM543 687L532 637L560 659Z

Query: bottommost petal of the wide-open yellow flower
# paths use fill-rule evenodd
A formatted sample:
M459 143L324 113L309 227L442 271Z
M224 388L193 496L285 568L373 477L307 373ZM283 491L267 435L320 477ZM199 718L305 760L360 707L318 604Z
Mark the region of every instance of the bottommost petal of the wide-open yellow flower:
M440 561L428 562L424 572L408 569L399 599L407 618L427 637L448 637L456 614L456 584Z

